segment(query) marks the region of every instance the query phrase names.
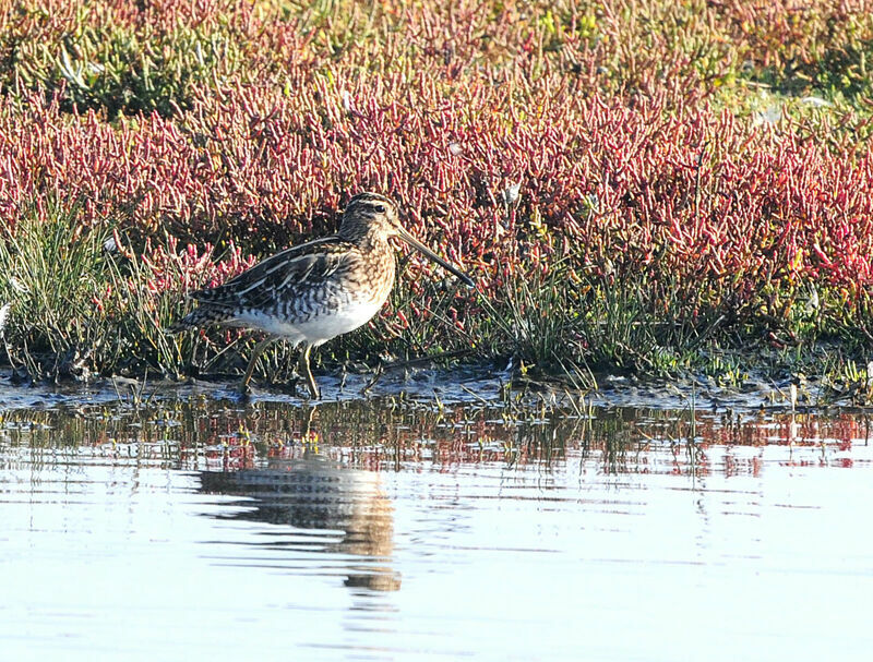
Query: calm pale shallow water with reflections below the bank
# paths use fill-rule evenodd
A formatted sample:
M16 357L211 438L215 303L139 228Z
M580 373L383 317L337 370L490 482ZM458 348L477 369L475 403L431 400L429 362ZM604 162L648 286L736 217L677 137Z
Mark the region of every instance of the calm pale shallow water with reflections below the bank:
M19 396L2 660L873 647L869 412Z

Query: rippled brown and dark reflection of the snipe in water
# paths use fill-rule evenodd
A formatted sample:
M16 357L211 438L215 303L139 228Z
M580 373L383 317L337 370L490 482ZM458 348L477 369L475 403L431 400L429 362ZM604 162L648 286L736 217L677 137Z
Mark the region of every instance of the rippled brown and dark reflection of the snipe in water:
M203 492L247 497L240 503L244 509L220 518L322 533L306 549L332 555L332 567L348 555L361 559L344 567L346 586L374 591L400 588L399 573L390 566L394 508L382 492L378 472L348 469L308 452L300 458L271 458L259 469L202 471L200 478ZM340 539L333 542L337 532Z

